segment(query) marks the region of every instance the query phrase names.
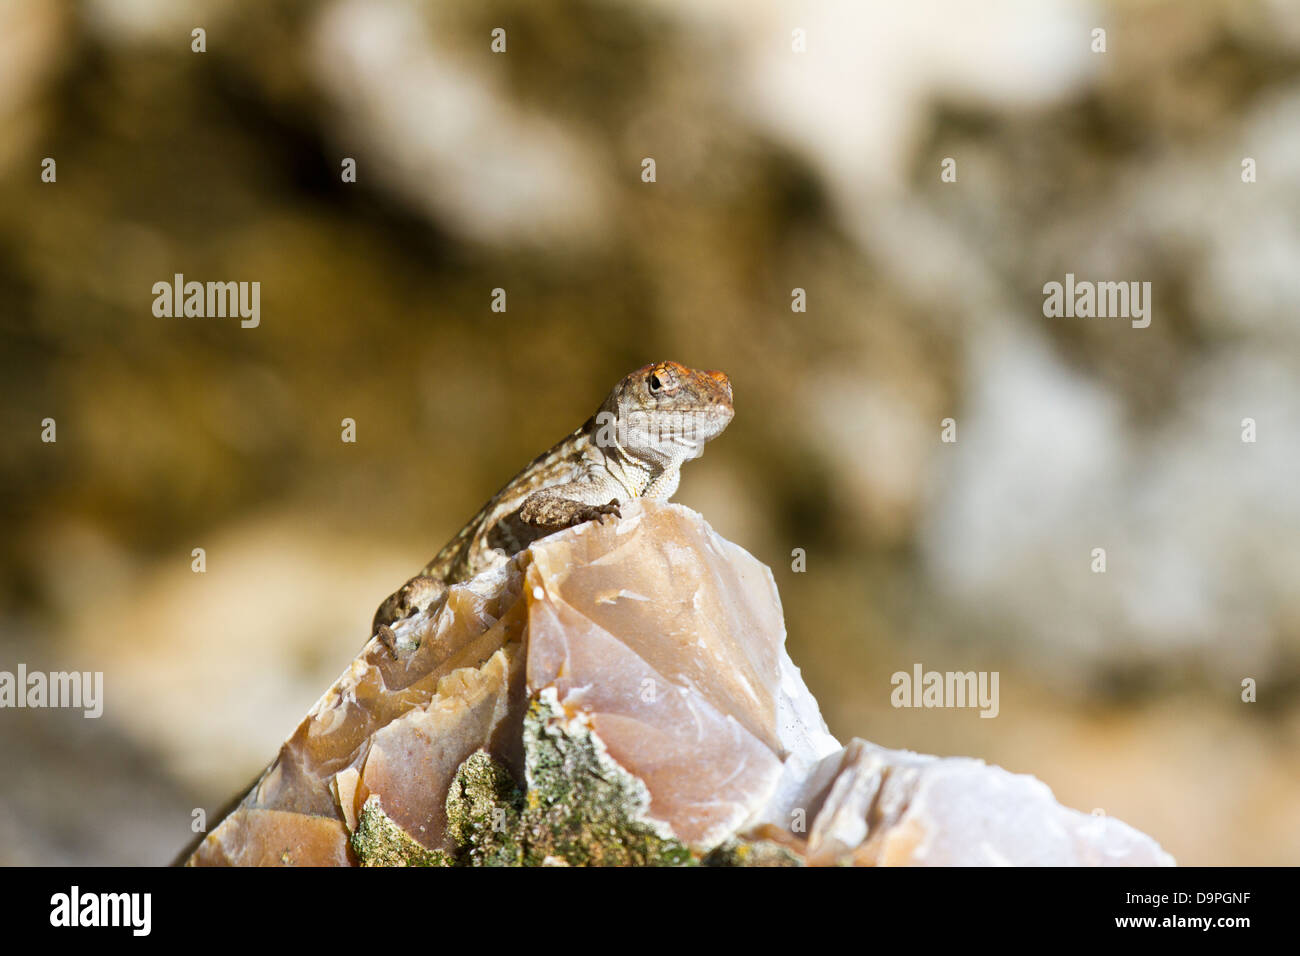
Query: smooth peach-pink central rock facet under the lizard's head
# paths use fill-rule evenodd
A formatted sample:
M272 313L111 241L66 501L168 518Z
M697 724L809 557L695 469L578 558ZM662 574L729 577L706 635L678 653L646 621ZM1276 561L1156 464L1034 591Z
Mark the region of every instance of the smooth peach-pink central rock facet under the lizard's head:
M838 748L798 670L771 572L699 515L650 506L537 549L528 685L554 688L650 788L650 814L712 848L783 762Z

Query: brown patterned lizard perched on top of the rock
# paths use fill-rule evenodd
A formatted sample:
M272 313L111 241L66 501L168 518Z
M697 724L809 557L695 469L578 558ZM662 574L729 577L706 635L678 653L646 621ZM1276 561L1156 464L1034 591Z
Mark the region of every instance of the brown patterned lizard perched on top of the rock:
M396 656L393 624L437 606L452 584L504 563L540 537L618 520L632 498L667 499L681 466L734 415L727 375L676 362L624 376L592 418L534 458L374 613L372 636Z

